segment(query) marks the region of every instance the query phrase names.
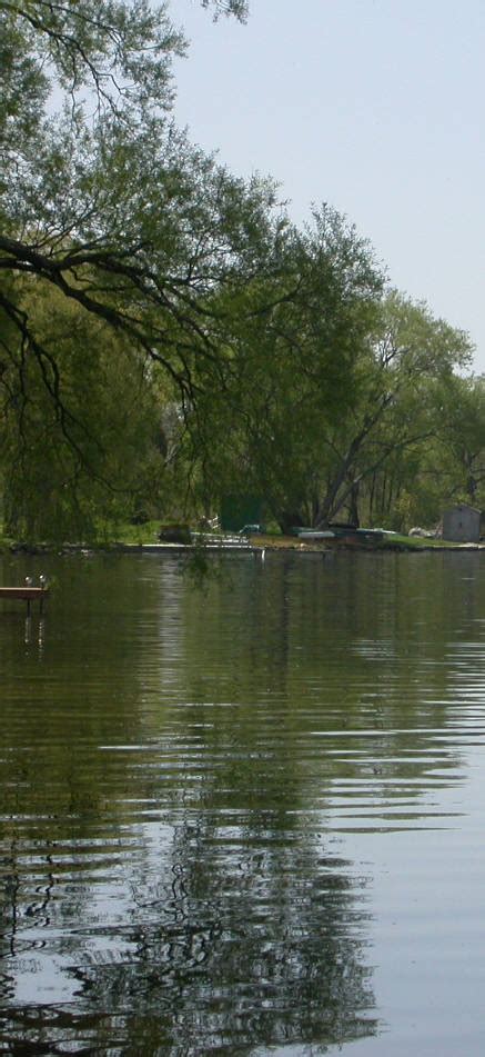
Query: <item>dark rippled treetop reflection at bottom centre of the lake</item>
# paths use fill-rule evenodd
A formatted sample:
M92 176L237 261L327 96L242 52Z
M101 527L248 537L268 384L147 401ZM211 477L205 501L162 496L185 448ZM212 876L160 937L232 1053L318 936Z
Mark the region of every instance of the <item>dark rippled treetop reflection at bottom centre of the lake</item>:
M170 880L134 893L135 957L77 970L90 1008L135 1014L146 1045L183 1054L374 1031L365 911L347 864L287 837L178 827Z

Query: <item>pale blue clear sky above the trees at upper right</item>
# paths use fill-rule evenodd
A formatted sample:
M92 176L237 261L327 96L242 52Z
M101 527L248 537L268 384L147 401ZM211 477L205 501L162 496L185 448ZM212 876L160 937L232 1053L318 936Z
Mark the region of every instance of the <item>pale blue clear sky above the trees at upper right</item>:
M390 281L466 330L485 372L484 0L250 0L245 26L173 0L175 117L292 219L323 201Z

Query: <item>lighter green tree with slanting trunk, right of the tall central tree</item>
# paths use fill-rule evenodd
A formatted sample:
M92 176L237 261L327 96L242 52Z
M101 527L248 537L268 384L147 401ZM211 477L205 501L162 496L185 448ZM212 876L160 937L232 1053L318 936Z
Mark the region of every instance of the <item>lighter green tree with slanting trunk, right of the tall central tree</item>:
M358 519L362 482L372 478L375 483L391 466L396 472L404 452L416 452L438 435L442 387L471 358L466 333L434 318L424 303L387 295L374 340L355 363L352 408L326 431L329 473L316 523L348 503Z

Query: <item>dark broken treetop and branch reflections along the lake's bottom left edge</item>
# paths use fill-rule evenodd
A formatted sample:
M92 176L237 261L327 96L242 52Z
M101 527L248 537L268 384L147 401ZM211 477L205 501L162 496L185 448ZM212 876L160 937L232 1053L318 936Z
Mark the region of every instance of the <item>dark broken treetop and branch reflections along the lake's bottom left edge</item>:
M2 1045L9 1040L16 1053L17 1038L31 1043L31 1053L84 1044L110 1054L198 1055L294 1043L322 1053L373 1034L362 878L325 856L316 836L284 831L277 821L267 810L256 824L223 827L202 812L175 825L159 847L152 835L150 856L125 871L121 924L114 916L101 924L89 888L80 894L68 870L38 890L37 905L13 910L11 888L18 948L2 959ZM36 916L29 943L27 923ZM14 976L22 958L41 954L42 927L55 951L53 995L70 976L73 1001L12 1008L9 968ZM50 934L59 931L57 948Z

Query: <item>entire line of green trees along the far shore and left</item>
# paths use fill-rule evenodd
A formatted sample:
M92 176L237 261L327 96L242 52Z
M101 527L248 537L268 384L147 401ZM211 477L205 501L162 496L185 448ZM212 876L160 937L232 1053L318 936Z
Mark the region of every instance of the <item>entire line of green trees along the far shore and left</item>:
M0 0L7 528L82 536L233 491L283 529L479 505L466 335L391 290L334 210L297 229L271 180L190 143L184 49L148 0Z

